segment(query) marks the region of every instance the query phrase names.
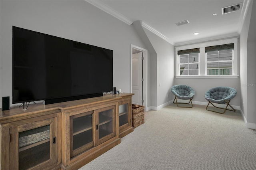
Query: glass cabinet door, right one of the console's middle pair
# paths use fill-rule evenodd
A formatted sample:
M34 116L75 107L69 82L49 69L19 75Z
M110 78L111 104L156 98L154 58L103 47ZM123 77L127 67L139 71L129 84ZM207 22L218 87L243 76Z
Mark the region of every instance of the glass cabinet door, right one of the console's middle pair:
M98 144L116 136L116 105L98 109Z

